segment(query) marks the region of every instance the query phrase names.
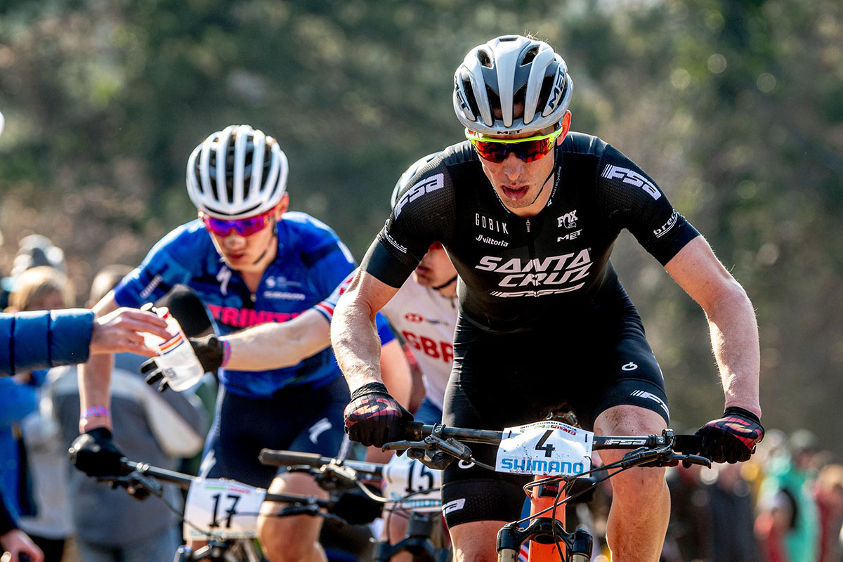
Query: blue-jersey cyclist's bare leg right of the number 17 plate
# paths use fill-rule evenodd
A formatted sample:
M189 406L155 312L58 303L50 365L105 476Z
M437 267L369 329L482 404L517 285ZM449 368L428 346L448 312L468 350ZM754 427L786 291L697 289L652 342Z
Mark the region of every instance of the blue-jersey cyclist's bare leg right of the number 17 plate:
M272 480L273 494L305 494L327 498L309 474L282 474ZM283 504L265 501L261 514L277 513ZM321 517L259 517L258 538L271 562L325 562L325 550L319 544Z

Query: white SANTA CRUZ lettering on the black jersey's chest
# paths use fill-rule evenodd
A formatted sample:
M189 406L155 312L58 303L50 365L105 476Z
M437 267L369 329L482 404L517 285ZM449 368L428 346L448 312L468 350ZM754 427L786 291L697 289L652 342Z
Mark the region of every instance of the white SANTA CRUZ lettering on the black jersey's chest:
M583 249L577 254L572 252L534 260L513 258L506 262L500 256L487 255L481 258L475 269L506 274L497 286L507 289L546 287L539 290L497 291L491 293L493 297L541 297L576 291L583 287L585 281L582 280L588 276L592 265L588 249Z

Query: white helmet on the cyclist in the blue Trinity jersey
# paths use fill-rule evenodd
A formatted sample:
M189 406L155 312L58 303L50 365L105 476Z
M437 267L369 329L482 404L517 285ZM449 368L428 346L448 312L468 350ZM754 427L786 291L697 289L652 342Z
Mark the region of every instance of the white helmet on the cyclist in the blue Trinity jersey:
M187 193L211 217L254 217L281 201L287 171L287 156L274 138L248 125L232 125L191 153Z

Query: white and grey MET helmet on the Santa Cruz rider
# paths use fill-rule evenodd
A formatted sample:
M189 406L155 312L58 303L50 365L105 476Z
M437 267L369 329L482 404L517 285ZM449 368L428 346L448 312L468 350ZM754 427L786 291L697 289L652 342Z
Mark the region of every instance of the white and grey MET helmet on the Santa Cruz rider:
M550 45L502 35L469 51L457 68L454 111L460 123L484 135L540 131L562 119L572 91L565 61ZM516 104L524 104L517 119Z

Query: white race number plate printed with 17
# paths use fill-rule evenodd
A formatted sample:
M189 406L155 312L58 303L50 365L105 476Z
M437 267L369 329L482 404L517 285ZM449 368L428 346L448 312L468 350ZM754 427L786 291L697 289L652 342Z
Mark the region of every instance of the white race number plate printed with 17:
M195 479L187 492L183 533L188 538L255 538L266 490L228 479Z

